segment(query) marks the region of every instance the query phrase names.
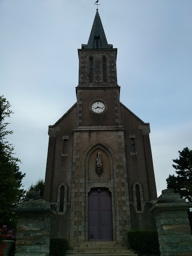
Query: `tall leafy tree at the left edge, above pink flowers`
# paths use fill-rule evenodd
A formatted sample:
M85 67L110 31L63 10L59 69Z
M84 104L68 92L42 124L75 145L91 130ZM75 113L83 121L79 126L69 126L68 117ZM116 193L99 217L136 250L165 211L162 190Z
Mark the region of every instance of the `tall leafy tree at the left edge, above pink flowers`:
M7 129L9 122L5 121L11 113L10 103L0 96L0 226L14 227L15 214L10 209L17 207L24 195L21 181L25 173L19 171L20 160L14 157L14 148L6 141L6 135L13 132Z

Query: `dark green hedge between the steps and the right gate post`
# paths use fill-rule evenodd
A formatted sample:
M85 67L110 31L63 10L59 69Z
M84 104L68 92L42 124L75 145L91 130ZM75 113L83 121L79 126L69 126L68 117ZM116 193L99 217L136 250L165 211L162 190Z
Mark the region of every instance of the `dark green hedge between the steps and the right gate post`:
M132 249L138 253L160 255L158 233L154 230L131 230L127 232Z

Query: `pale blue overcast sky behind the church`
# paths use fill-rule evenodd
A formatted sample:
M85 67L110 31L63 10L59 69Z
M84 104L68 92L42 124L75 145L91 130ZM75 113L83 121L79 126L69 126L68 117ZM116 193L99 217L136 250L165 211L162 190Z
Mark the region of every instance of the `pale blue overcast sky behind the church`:
M150 123L157 193L178 150L192 149L192 0L99 0L117 47L120 101ZM8 137L27 188L44 178L48 125L76 101L78 54L94 0L0 0L0 94L14 112Z

